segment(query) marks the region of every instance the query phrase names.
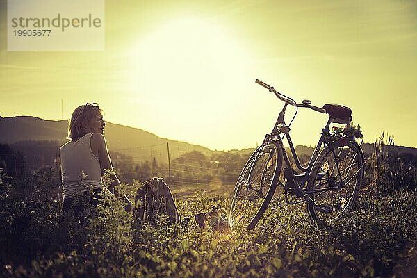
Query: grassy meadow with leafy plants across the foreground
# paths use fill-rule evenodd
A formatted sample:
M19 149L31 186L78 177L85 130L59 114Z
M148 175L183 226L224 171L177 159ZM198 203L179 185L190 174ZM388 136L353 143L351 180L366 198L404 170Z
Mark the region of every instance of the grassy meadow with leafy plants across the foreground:
M227 207L233 186L172 186L183 216ZM315 229L305 205L272 201L253 231L138 225L118 200L81 226L61 204L2 194L1 277L415 277L417 197L362 192L354 210Z

